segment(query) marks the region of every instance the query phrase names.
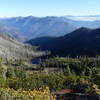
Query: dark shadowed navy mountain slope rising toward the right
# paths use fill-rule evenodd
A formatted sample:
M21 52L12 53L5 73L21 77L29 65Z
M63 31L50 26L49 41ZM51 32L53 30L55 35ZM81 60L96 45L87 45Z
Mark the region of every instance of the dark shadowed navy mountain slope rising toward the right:
M43 39L43 38L42 38ZM38 42L37 42L38 41ZM100 54L100 28L80 28L63 37L30 40L32 45L40 45L43 50L50 50L52 55L59 56L95 56Z

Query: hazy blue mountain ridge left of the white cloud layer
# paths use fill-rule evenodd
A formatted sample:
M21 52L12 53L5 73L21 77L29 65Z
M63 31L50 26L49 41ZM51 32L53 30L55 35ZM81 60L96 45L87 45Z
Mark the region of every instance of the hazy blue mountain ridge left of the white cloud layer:
M0 32L17 40L27 40L43 36L62 36L76 27L59 17L15 17L0 19Z

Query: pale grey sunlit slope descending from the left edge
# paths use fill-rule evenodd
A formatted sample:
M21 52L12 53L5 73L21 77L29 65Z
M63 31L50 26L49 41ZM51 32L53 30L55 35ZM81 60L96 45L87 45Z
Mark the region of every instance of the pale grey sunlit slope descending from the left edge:
M44 52L37 52L27 44L20 43L13 38L0 34L0 57L4 60L28 60L31 57L37 57L44 54Z

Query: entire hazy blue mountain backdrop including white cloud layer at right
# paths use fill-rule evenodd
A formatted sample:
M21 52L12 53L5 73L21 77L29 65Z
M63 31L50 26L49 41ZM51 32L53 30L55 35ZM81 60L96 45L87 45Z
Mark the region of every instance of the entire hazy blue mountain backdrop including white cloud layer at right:
M99 19L100 15L0 18L0 33L8 34L19 41L39 37L59 37L80 27L99 28Z

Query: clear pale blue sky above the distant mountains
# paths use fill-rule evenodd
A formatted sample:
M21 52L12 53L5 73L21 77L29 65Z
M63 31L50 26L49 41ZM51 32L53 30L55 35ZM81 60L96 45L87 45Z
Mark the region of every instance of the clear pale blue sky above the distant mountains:
M0 0L0 17L100 15L100 0Z

